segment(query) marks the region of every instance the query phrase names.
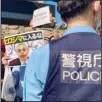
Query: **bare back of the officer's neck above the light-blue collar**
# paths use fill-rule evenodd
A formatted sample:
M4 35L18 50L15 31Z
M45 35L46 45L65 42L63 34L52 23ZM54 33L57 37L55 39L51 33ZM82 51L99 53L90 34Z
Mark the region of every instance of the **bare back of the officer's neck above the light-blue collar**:
M93 21L94 20L89 18L72 18L68 20L68 29L76 26L91 26L92 28L95 28Z

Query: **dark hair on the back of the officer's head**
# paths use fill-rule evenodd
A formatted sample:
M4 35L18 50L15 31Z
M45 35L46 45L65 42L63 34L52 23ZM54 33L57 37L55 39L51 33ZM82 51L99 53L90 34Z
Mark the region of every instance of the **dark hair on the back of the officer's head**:
M59 0L58 12L64 19L83 13L93 0Z

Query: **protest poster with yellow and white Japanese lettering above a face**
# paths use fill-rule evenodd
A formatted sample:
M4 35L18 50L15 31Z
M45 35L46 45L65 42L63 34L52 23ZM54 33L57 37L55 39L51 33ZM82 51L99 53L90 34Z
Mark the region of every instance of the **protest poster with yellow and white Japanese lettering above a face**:
M4 38L6 55L10 56L9 66L27 63L29 56L35 48L44 45L43 31L30 31L15 34Z

